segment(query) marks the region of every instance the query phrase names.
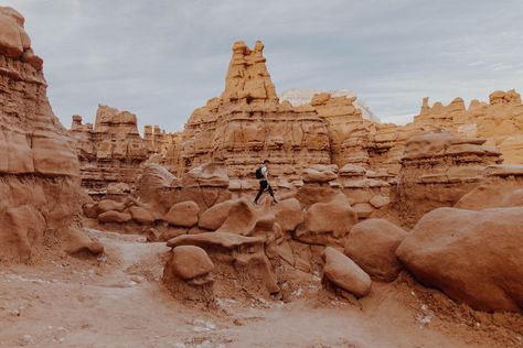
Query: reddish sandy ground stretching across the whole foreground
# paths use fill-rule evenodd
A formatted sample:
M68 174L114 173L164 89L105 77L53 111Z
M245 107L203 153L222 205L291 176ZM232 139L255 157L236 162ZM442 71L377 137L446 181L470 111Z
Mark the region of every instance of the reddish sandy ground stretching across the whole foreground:
M174 301L169 250L90 230L98 259L54 257L0 269L0 347L523 347L521 315L458 306L404 275L346 301L312 279L292 301L226 296L217 309Z

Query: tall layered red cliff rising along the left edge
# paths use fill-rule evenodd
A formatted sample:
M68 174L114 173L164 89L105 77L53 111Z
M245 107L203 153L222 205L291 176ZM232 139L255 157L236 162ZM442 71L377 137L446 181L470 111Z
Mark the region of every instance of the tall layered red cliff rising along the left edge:
M42 59L23 17L0 7L0 260L29 260L43 247L102 252L76 227L78 161L74 141L46 97Z

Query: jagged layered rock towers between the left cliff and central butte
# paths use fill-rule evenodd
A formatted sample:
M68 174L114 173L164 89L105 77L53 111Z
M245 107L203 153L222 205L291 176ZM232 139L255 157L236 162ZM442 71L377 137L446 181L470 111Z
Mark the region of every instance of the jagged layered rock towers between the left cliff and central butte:
M134 187L142 173L141 164L153 155L162 162L168 146L177 139L175 134L149 124L142 139L135 113L108 106L98 106L95 124L83 124L81 116L73 116L70 133L76 139L82 186L92 195L107 194L108 186L116 183Z

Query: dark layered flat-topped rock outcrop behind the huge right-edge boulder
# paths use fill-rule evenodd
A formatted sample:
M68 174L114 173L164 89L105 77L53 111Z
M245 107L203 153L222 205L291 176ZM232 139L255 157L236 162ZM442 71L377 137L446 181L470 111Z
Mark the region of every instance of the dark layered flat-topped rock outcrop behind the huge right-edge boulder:
M484 142L447 132L410 138L392 195L401 220L413 226L425 213L453 206L479 186L484 167L501 162L500 153Z

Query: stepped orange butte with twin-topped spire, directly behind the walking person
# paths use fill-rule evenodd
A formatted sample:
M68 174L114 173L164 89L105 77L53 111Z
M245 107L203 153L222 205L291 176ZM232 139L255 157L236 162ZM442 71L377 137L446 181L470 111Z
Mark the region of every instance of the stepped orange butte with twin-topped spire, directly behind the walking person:
M263 44L233 46L222 96L196 109L171 149L168 164L177 175L207 162L222 162L231 177L252 177L270 157L273 174L298 175L311 164L329 164L325 122L312 107L279 104L265 65Z

